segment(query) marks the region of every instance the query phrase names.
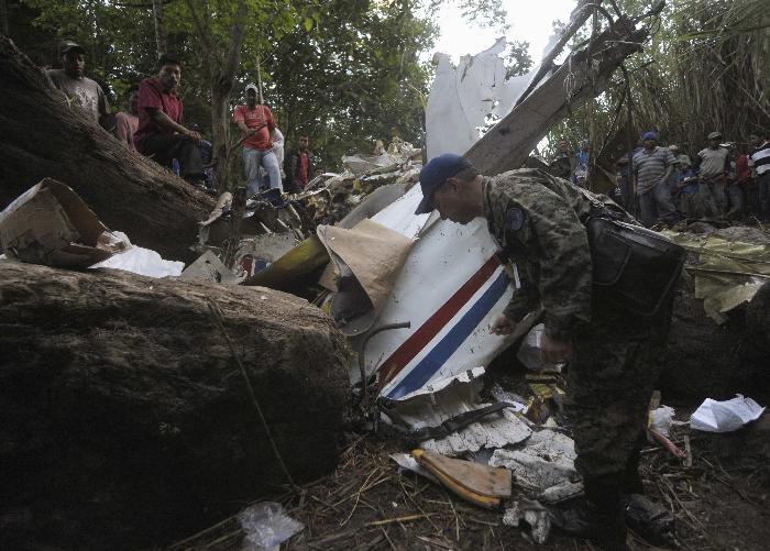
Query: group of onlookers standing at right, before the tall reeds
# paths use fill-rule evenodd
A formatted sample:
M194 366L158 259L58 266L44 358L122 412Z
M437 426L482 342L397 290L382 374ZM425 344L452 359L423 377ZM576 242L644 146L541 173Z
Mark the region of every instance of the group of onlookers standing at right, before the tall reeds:
M770 132L751 134L749 142L741 148L711 132L693 162L675 144L659 145L656 132L645 132L638 146L617 161L608 195L648 228L682 219L770 221ZM587 151L584 142L572 154L569 142L560 141L551 172L586 187L582 158Z

